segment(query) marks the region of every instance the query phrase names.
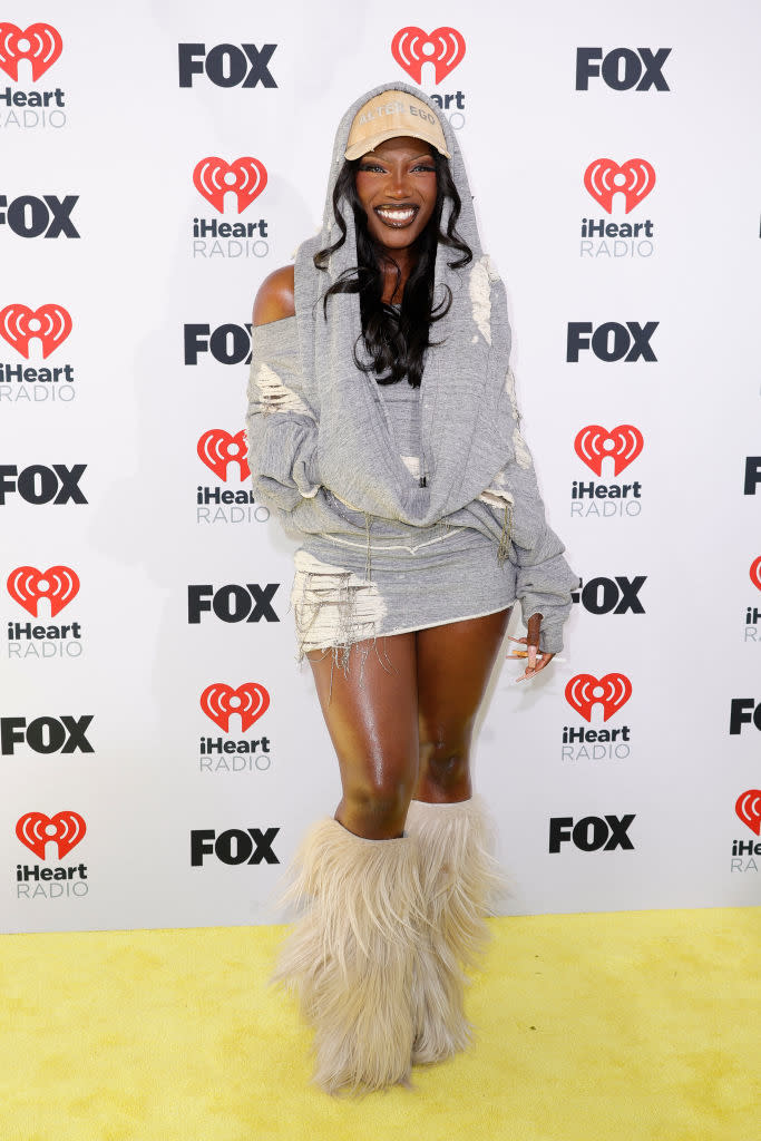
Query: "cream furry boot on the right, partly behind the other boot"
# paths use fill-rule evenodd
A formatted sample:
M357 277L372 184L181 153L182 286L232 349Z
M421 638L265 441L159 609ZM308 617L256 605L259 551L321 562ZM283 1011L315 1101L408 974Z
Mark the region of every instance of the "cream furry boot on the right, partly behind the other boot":
M488 939L486 915L504 880L480 798L454 804L413 800L405 827L418 839L426 901L413 976L412 1061L420 1065L442 1061L470 1042L464 972L477 965Z

